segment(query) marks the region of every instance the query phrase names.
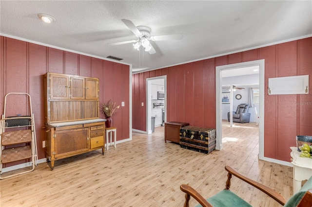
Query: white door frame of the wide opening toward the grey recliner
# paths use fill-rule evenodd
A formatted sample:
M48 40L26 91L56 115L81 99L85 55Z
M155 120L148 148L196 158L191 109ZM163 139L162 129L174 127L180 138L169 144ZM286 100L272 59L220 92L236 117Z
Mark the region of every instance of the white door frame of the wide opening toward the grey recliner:
M264 158L264 60L255 60L216 67L216 149L222 150L222 71L259 67L259 159Z

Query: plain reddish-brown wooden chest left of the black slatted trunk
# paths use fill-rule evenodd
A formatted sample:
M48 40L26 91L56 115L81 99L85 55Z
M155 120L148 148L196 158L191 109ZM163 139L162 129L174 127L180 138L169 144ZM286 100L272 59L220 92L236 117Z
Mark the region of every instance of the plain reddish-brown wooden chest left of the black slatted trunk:
M180 128L187 126L189 123L170 121L165 123L165 142L172 141L179 143L180 141Z

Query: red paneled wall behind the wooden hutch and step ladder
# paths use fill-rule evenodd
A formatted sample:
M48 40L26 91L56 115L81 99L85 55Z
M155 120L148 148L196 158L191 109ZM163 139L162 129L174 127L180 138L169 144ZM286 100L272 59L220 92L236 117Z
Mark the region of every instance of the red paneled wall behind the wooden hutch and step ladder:
M42 141L45 140L45 130L41 128L44 126L43 75L46 72L55 72L97 77L100 104L110 99L120 105L125 102L125 106L120 107L113 116L112 124L118 128L117 140L129 138L129 69L128 65L0 36L0 113L3 114L5 94L30 94L35 116L38 157L44 158ZM23 100L11 100L9 108L6 108L7 116L25 114L27 107L23 103ZM101 114L100 118L105 116Z

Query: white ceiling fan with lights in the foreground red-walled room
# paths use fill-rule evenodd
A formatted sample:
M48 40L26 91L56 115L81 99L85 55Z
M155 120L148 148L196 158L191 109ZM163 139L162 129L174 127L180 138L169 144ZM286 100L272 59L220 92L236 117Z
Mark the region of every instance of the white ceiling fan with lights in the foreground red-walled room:
M162 41L162 40L174 40L174 39L182 39L183 35L157 35L151 36L151 28L148 26L136 26L131 20L121 19L121 21L135 34L137 35L137 40L129 40L124 42L116 42L110 43L109 45L122 45L127 43L135 43L133 44L134 48L139 50L140 46L143 46L146 52L150 54L156 53L156 50L151 45L149 40L152 41Z

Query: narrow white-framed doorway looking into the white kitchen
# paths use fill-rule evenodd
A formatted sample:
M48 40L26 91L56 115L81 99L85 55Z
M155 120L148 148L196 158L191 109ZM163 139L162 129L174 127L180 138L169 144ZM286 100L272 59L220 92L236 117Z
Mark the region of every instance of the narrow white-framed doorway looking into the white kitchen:
M160 127L163 126L162 123L167 121L167 76L147 78L146 86L146 131L147 134L152 134L152 122L155 124L154 127ZM157 92L163 93L164 99L158 98ZM156 108L156 104L158 108ZM160 104L163 104L164 110L159 107ZM153 121L152 116L155 117Z

